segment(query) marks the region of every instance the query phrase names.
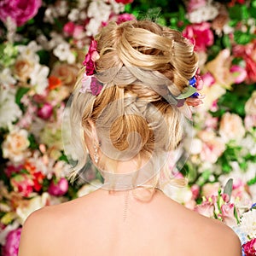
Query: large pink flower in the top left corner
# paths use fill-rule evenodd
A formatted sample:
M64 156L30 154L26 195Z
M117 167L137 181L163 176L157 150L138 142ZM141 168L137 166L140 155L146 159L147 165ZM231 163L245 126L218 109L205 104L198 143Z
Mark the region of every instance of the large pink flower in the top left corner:
M42 0L2 0L0 1L0 20L5 22L8 17L22 26L27 20L38 13Z

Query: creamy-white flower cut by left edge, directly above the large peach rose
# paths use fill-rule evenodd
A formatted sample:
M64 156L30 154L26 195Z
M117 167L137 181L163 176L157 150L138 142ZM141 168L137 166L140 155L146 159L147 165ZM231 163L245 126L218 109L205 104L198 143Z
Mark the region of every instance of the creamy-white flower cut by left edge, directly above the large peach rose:
M0 127L7 128L16 119L19 119L22 112L15 103L14 89L1 89L0 94Z

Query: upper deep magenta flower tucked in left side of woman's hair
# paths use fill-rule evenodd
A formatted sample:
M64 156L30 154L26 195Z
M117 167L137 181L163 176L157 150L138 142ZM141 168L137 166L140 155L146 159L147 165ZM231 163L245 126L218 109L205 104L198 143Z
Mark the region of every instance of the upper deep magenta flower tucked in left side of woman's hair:
M88 53L85 55L85 60L83 62L86 70L86 75L93 75L95 69L95 61L98 58L99 54L97 52L97 42L96 40L91 40Z

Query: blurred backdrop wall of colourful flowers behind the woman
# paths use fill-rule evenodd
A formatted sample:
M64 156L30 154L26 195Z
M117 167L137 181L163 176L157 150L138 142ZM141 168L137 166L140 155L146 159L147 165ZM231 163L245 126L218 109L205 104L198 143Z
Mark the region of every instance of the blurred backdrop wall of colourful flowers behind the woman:
M230 225L244 255L256 255L256 0L2 0L3 255L17 255L31 212L95 189L67 180L62 113L90 39L110 21L145 18L183 32L195 44L206 95L194 113L189 159L179 170L189 184L168 187L166 194Z

